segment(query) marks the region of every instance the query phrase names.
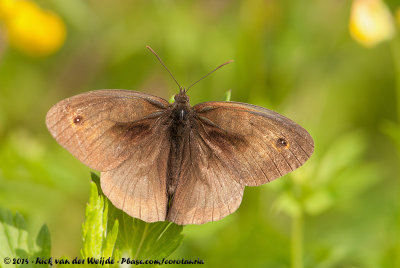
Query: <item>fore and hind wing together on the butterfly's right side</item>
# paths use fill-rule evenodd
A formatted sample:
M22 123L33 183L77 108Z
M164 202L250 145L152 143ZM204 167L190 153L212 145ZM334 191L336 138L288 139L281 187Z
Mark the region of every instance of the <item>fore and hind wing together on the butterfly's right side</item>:
M235 211L244 186L267 183L304 164L311 136L268 109L236 102L194 106L186 162L167 219L202 224Z

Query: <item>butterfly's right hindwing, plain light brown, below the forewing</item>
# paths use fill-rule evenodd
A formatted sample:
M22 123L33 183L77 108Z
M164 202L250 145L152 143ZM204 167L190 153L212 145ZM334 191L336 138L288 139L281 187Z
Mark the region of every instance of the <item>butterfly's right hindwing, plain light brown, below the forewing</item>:
M244 185L218 158L207 140L192 131L184 143L184 161L167 220L180 225L217 221L233 213Z

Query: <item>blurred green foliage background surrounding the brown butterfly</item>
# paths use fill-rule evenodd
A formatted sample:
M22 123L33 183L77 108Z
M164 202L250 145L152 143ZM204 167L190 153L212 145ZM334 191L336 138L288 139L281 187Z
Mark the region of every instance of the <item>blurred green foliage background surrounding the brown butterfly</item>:
M400 267L398 33L374 48L355 43L350 1L39 4L62 17L67 40L56 54L31 58L0 39L0 207L21 213L31 233L47 223L53 257L80 254L90 174L51 138L46 112L103 88L170 99L177 87L151 45L183 85L235 59L190 90L192 104L231 89L232 100L276 110L315 140L304 167L248 187L236 213L185 227L171 258L207 267Z

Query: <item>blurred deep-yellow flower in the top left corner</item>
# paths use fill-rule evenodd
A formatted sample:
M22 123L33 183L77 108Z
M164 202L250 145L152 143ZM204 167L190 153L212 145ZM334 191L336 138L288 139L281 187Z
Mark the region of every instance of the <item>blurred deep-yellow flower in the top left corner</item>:
M61 18L27 0L0 0L0 20L8 41L31 56L49 55L64 44L66 28Z

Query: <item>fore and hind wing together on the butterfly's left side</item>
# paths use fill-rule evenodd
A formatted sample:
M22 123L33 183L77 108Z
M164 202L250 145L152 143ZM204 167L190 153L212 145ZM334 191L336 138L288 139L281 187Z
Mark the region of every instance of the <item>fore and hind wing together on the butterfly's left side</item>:
M164 99L128 90L96 90L53 106L46 124L53 137L89 167L118 208L147 222L167 211L170 148Z

